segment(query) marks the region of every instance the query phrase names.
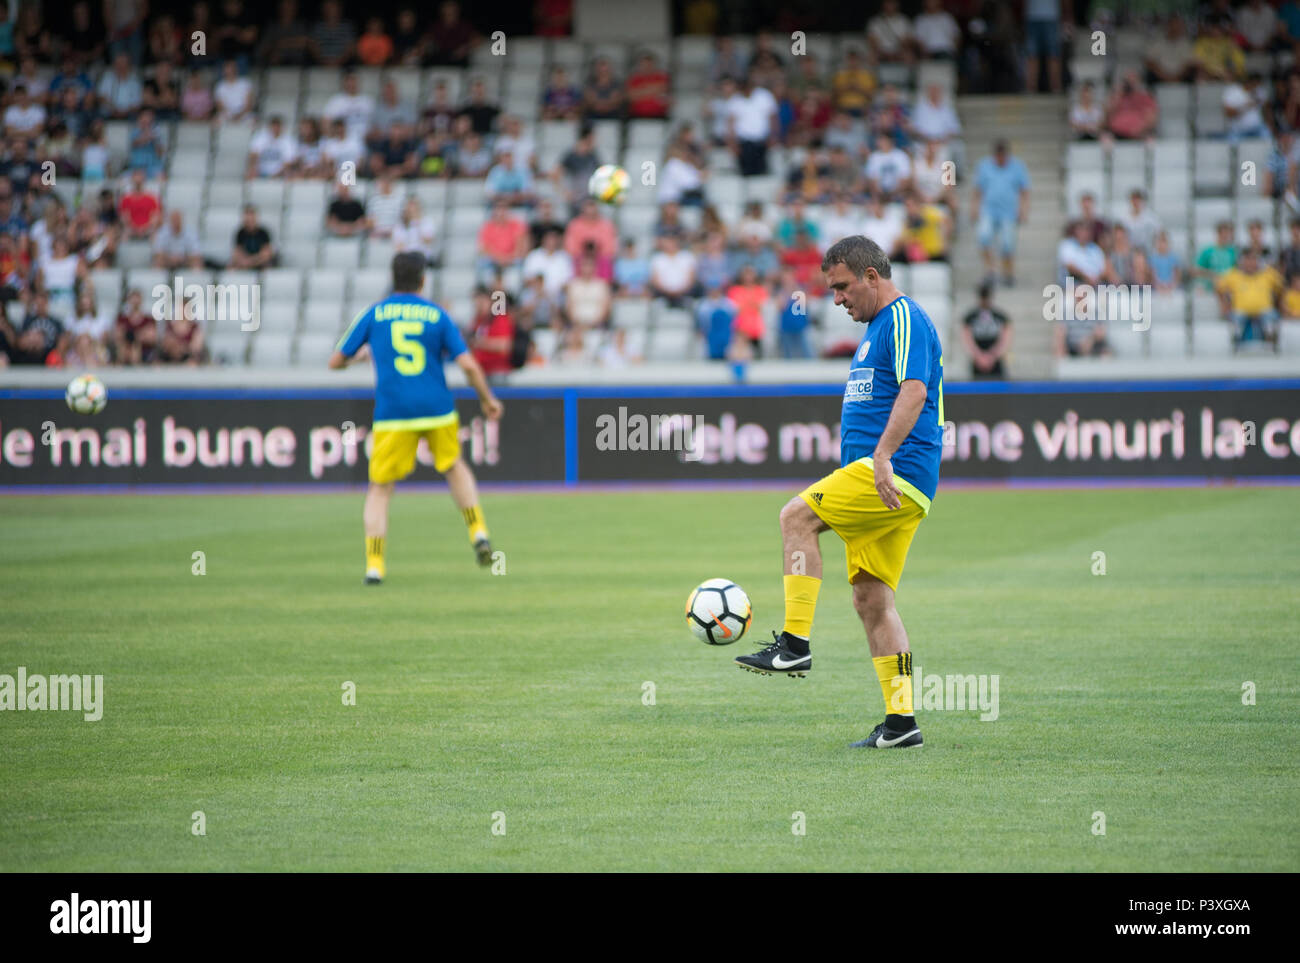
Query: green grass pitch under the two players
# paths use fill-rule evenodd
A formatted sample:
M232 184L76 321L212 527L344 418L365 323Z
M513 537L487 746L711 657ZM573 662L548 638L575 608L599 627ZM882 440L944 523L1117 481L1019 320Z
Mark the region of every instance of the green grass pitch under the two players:
M833 535L811 676L731 663L785 498L489 494L493 576L399 490L378 589L356 494L0 499L0 673L107 693L0 712L0 871L1300 869L1300 491L940 491L900 611L1000 716L897 752L846 747L883 708ZM715 576L737 646L681 616Z

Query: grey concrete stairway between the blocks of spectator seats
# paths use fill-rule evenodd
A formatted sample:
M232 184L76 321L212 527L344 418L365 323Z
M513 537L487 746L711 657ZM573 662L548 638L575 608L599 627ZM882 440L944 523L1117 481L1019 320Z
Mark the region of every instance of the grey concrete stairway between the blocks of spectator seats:
M966 168L958 173L961 235L953 251L953 325L944 344L944 370L965 378L970 359L962 348L961 318L975 305L975 291L984 277L984 265L975 244L975 224L970 220L970 182L975 165L991 155L993 142L1006 138L1011 153L1030 169L1030 217L1020 225L1015 256L1015 286L998 283L993 304L1011 318L1015 340L1011 346L1010 374L1014 378L1050 378L1056 374L1052 357L1052 327L1043 318L1043 287L1056 282L1056 251L1065 230L1062 159L1070 139L1063 96L966 96L957 113L966 142Z

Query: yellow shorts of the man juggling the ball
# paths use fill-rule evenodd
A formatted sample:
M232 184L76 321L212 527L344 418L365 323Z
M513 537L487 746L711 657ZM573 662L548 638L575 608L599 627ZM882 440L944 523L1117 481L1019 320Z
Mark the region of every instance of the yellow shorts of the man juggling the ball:
M876 493L868 461L850 461L800 493L807 507L844 539L852 582L861 572L898 587L907 548L926 511L902 495L901 508L887 508Z

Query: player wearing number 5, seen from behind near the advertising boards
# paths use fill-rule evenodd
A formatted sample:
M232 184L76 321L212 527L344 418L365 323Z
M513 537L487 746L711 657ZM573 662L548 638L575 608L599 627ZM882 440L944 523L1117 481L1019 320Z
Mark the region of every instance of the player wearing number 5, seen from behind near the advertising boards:
M484 416L495 421L502 404L488 387L482 368L465 347L447 313L420 296L424 256L399 253L393 259L393 294L372 304L352 321L330 356L330 368L374 359L374 448L370 452L370 487L365 495L365 584L384 581L384 550L389 532L393 486L415 469L416 447L424 438L433 465L447 480L460 508L469 542L480 565L491 563L488 525L478 507L478 486L460 457L460 420L442 373L450 359L478 392ZM361 351L369 346L369 351Z

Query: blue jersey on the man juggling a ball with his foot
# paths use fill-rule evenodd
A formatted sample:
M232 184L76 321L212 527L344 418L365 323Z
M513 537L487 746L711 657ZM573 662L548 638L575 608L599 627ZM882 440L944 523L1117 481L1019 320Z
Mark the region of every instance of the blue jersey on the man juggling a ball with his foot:
M926 386L926 404L892 461L898 487L928 513L944 452L942 347L930 316L900 296L871 318L853 355L840 416L841 465L871 457L909 379Z

